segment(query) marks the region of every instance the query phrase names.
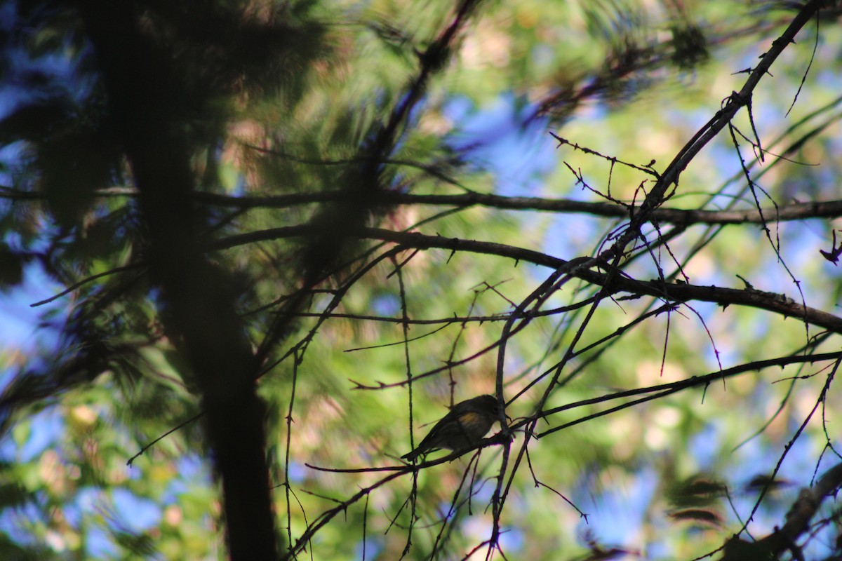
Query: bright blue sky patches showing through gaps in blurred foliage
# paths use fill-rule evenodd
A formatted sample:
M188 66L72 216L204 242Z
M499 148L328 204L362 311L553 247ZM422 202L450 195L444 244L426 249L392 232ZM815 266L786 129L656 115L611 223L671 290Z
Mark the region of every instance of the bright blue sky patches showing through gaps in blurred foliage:
M7 8L0 7L0 10L3 9L8 9L8 4ZM3 12L0 12L0 19L3 19L2 15ZM61 60L45 61L45 65L52 70L61 68L67 70L67 61L63 62L63 66ZM19 102L19 93L14 88L0 89L0 115L16 107ZM511 94L499 98L496 103L482 109L473 107L472 103L465 98L456 98L445 107L445 116L457 123L461 130L461 134L454 140L456 147L477 146L476 150L472 151L472 158L478 165L494 173L496 193L534 196L541 191L541 175L557 167L560 159L556 150L557 142L546 134L546 122L537 119L527 124L526 119L531 112L528 108L517 110L519 105L518 100ZM685 118L686 115L682 117ZM702 118L700 113L698 119ZM733 163L733 154L724 156L727 156L727 161ZM747 153L746 156L749 154ZM0 184L11 184L11 178L0 174ZM572 193L573 196L575 193ZM559 257L572 257L572 249L567 242L567 237L564 236L564 230L585 228L586 225L592 227L593 223L590 220L565 217L563 223L562 220L557 220L556 224L554 230L551 230L551 234L546 238L547 245L544 250ZM33 264L26 268L22 286L9 290L0 298L0 341L3 341L3 354L0 357L8 359L13 357L14 352L28 355L38 349L50 349L57 346L56 331L39 329L40 314L49 309L49 306L33 309L29 304L56 294L62 288L51 282L39 266ZM61 313L66 313L67 306L71 303L72 297L66 296L51 305ZM0 363L0 387L8 384L10 372L8 364L4 366ZM19 458L25 461L35 458L61 439L64 427L55 410L48 408L41 411L37 414L36 420L23 446L15 446L8 437L0 441L0 455L3 459ZM702 468L712 462L711 453L715 449L712 443L716 441L717 431L720 430L722 430L721 427L712 424L694 442L693 448ZM753 461L773 465L776 454L780 451L767 450L762 453L756 446L755 443L749 444L743 454L753 458ZM739 457L740 455L735 455L735 462ZM798 442L784 463L782 474L785 478L801 480L801 475L805 470L813 469L813 462L814 456L808 449L808 445L803 441ZM189 481L193 477L208 477L204 468L205 464L198 458L184 458L182 467L184 479L175 484L173 490L170 490L168 500L177 499L178 485L183 484L184 481ZM298 473L296 467L291 467L293 479ZM126 469L131 472L132 477L143 476L136 468ZM639 515L651 499L657 486L657 482L653 480L653 474L644 472L638 483L639 485L632 489L613 490L605 495L605 499L599 505L595 505L595 514L603 516L594 516L591 518L591 524L605 542L627 542L637 532L637 527L615 522L636 520L638 516L629 516L628 513ZM82 516L83 512L98 508L103 500L110 501L116 521L120 521L121 524L136 532L142 532L156 524L162 515L161 505L156 505L149 500L139 500L128 490L120 488L115 489L108 499L97 495L93 490L83 492L69 514ZM741 514L744 515L745 509L750 508L750 500L750 497L738 498L738 505L742 509ZM589 511L588 508L584 510ZM618 512L622 514L618 515ZM8 529L8 523L8 519L0 518L0 531ZM514 532L506 539L516 543L522 539L522 536ZM101 530L94 532L89 544L89 553L92 556L107 557L115 551L105 532Z

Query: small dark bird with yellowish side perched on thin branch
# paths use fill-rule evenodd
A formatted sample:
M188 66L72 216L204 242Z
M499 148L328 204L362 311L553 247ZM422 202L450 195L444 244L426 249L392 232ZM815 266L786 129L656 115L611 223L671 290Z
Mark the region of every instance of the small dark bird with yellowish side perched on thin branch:
M403 455L414 462L421 454L435 448L459 450L476 444L499 418L499 405L493 395L480 395L457 403L437 422L412 452Z

